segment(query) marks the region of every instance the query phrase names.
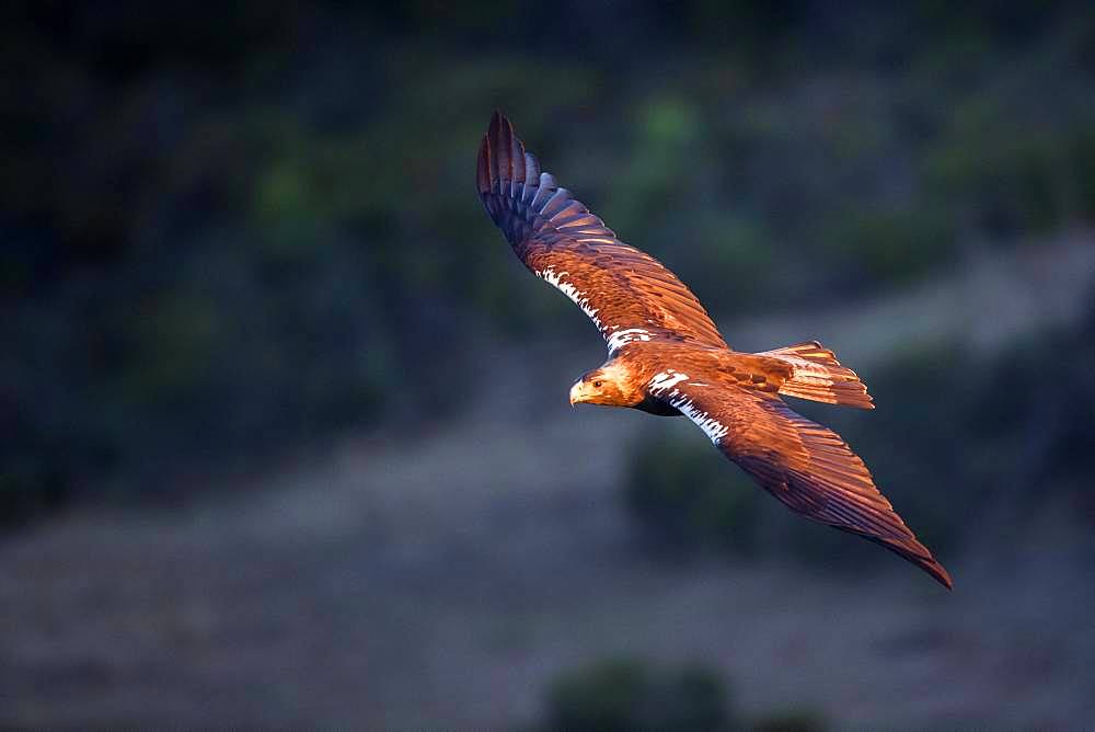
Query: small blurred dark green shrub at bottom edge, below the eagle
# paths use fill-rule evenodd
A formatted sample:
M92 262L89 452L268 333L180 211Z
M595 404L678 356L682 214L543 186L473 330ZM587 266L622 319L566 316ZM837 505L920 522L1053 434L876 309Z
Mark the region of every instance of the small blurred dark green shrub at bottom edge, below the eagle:
M548 694L545 730L715 731L734 728L725 684L704 666L658 668L623 659L560 675Z

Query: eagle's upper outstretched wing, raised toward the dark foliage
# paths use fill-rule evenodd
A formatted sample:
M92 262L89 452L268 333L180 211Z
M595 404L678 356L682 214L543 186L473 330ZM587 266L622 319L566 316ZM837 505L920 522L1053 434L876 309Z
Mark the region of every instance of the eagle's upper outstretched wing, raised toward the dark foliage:
M476 183L517 256L592 319L610 352L652 340L726 347L691 290L541 172L497 112L480 147Z

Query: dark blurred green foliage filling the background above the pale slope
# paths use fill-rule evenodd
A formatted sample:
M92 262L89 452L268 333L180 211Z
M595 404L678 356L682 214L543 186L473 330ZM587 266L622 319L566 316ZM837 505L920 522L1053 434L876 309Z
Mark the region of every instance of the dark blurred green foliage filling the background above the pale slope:
M715 313L1095 218L1084 3L0 13L8 518L443 416L471 336L588 335L475 198L495 107Z

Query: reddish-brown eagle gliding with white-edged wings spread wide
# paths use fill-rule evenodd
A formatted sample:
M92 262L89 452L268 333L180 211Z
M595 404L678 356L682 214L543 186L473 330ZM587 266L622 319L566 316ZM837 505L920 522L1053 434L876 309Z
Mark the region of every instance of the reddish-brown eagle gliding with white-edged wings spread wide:
M783 401L874 408L832 351L816 341L734 351L695 295L542 171L499 112L483 136L475 179L517 258L581 308L608 345L608 359L570 387L572 405L684 415L792 511L875 541L953 586L840 435Z

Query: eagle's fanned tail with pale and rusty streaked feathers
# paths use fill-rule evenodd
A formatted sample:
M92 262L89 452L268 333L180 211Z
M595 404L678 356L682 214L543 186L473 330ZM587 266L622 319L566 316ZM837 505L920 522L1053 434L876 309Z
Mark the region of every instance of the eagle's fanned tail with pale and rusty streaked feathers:
M780 387L780 393L827 404L874 409L867 387L850 368L837 361L832 351L817 341L765 351L757 354L779 358L794 369Z

